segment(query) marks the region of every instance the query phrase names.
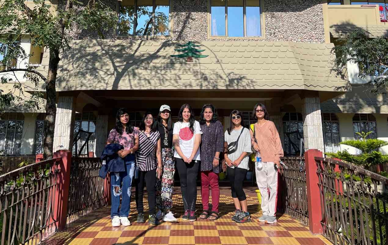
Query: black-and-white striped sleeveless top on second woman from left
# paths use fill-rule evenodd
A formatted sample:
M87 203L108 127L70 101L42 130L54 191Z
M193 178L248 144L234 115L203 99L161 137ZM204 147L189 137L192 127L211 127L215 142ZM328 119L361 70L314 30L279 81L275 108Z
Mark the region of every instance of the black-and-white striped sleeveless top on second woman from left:
M158 130L151 132L149 137L143 131L139 131L139 149L136 151L136 163L139 170L149 171L156 168L156 144L159 138Z

